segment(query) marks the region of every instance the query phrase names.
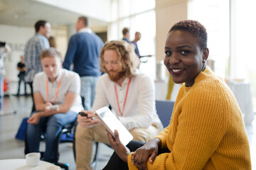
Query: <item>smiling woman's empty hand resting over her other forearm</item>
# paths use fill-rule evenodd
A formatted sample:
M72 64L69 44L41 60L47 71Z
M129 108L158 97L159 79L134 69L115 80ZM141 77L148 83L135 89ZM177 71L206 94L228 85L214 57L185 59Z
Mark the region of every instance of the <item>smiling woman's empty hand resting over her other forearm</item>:
M145 145L138 148L132 154L132 164L134 164L137 169L147 169L147 162L149 161L151 164L156 159L156 155L158 154L159 147L161 146L161 140L159 138L154 138L153 140L149 140Z

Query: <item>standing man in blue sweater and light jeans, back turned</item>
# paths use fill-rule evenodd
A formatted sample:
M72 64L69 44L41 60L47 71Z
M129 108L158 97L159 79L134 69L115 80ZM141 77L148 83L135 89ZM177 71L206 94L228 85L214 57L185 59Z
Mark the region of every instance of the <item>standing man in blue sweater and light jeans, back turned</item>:
M90 111L95 98L95 87L100 76L100 50L104 43L98 35L89 28L88 18L80 16L75 24L77 33L68 42L63 67L77 72L81 79L82 104Z

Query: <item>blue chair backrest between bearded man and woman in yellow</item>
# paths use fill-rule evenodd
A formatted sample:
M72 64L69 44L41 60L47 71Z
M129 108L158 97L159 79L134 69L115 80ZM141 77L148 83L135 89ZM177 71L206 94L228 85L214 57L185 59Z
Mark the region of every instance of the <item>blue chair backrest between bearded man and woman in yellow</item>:
M156 112L159 115L161 123L166 128L171 120L171 114L174 109L174 101L169 100L156 100Z

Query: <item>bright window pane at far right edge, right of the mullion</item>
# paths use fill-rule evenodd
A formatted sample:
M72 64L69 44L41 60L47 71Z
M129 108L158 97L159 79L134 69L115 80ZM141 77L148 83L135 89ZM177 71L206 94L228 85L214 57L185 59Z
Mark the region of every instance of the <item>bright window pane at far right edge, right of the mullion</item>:
M253 52L256 40L255 6L254 0L230 1L232 77L250 82L254 110L256 110L256 55Z

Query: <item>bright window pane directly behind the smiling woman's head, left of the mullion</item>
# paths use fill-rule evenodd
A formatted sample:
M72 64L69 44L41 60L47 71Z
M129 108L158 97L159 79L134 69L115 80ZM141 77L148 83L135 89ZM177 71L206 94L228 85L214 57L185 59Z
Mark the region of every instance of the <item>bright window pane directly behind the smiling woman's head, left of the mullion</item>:
M230 56L229 16L229 1L191 0L188 3L188 19L206 27L210 51L208 59L215 63L215 74L223 78L228 76Z

